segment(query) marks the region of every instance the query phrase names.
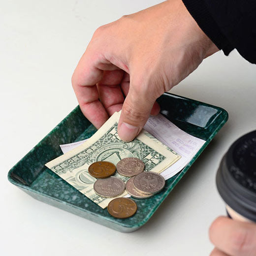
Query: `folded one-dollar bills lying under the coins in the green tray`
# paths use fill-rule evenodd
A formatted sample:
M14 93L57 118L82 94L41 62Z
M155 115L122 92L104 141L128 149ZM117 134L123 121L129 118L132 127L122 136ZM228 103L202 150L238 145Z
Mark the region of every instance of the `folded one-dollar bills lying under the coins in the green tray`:
M113 198L101 197L94 191L93 185L96 178L88 173L88 167L93 162L110 161L116 165L121 159L135 157L145 163L145 171L160 173L179 159L177 154L156 143L143 133L140 133L131 142L122 141L117 132L119 117L120 113L114 113L82 145L45 164L101 208L107 207ZM128 177L118 173L115 176L125 182L128 180ZM127 192L118 197L125 195L127 195Z

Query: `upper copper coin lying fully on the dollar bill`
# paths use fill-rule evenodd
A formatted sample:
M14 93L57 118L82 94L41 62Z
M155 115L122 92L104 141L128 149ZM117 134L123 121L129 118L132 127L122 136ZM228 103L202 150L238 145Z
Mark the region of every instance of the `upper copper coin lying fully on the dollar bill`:
M88 172L95 178L104 179L113 175L116 171L116 166L112 162L99 161L92 163Z

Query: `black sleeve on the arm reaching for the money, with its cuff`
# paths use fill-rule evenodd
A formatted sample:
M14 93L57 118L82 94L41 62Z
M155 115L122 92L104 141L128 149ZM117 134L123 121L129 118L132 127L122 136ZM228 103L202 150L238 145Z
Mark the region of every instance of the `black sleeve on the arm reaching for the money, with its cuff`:
M183 0L203 32L228 55L256 64L256 0Z

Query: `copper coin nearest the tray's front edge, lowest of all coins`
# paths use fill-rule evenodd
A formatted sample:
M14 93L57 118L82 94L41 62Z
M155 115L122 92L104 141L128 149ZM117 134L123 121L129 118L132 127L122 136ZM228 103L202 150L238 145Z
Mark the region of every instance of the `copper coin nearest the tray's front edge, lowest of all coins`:
M107 210L113 217L125 219L136 213L137 205L132 199L119 197L109 202Z

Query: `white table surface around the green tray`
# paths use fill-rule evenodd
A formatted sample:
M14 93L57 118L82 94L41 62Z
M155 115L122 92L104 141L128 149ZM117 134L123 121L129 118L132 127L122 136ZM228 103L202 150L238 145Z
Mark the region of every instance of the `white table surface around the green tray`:
M100 25L158 0L8 0L0 8L0 251L7 255L207 256L208 227L225 214L219 162L256 129L256 65L236 51L203 61L172 93L223 107L229 120L151 220L132 233L41 203L7 181L8 170L76 105L72 72Z

